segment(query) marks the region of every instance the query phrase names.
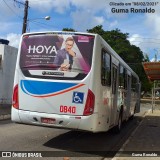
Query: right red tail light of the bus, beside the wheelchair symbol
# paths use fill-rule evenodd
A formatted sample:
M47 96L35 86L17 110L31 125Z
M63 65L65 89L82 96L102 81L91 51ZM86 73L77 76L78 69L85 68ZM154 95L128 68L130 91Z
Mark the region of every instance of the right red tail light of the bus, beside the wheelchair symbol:
M88 90L86 105L85 105L84 112L83 112L84 116L93 114L94 102L95 102L95 95L93 94L91 90Z

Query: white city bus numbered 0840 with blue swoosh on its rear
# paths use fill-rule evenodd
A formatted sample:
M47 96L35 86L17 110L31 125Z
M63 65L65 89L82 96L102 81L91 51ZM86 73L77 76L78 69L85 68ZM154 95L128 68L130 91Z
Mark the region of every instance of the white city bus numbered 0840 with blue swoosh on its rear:
M112 127L120 131L122 121L139 110L137 74L98 34L22 35L12 121L90 132Z

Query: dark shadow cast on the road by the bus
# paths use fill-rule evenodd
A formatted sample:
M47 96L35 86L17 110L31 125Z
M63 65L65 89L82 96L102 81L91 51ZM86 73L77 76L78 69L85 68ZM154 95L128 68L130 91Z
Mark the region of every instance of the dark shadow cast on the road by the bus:
M44 146L80 155L113 157L141 120L142 117L136 116L132 120L124 122L120 134L113 133L113 130L103 133L69 131L50 139Z

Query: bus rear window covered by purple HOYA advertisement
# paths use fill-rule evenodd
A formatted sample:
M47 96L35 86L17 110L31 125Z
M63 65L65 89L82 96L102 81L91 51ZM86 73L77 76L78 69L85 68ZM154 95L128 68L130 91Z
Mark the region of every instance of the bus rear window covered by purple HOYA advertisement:
M24 74L30 71L26 76L33 77L33 71L44 73L44 70L53 71L47 76L54 77L70 77L69 73L72 73L71 77L73 73L87 75L91 69L94 39L93 35L63 32L24 35L20 51L20 68ZM60 74L61 72L68 73Z

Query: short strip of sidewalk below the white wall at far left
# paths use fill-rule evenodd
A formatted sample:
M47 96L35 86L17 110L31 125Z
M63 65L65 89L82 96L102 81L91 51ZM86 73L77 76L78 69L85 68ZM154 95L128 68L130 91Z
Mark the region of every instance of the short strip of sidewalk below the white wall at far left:
M11 106L0 106L0 121L11 118Z

